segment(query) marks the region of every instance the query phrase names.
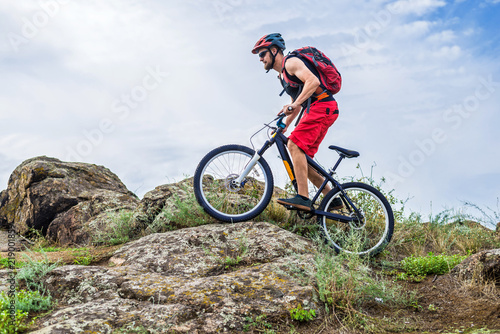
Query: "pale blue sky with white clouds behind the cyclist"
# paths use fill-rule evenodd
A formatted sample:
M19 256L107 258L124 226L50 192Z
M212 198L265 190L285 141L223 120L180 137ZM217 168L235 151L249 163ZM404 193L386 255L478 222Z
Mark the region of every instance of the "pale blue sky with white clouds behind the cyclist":
M40 0L0 4L0 188L25 159L104 165L140 197L248 138L288 99L253 44L281 32L343 76L329 144L423 213L498 212L498 0ZM256 144L265 140L257 136ZM274 152L266 157L286 181Z

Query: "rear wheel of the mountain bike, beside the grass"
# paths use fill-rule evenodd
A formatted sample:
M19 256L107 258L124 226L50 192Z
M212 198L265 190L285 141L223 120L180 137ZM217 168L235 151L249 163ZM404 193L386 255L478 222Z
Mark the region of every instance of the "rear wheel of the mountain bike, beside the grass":
M350 182L330 191L320 211L342 218L319 216L323 237L337 252L375 256L391 241L394 215L387 199L376 188Z

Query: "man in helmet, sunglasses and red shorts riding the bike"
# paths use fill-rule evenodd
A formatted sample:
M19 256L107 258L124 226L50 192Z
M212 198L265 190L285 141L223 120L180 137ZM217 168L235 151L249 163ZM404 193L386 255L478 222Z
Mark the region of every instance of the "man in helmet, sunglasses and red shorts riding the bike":
M278 203L285 206L310 211L312 202L309 199L307 179L319 187L324 178L316 170L309 167L306 154L314 157L318 147L323 141L328 129L337 120L339 111L337 102L332 94L322 87L319 74L311 64L299 57L285 57L285 41L281 34L274 33L260 38L252 49L258 54L264 69L278 72L278 78L284 91L290 95L291 103L283 106L280 113L287 115L286 128L304 110L303 117L292 131L288 140L288 150L294 164L294 173L297 180L297 195L293 198L280 198ZM283 75L286 72L286 76ZM296 85L290 85L287 78ZM323 194L326 195L331 188L326 186Z

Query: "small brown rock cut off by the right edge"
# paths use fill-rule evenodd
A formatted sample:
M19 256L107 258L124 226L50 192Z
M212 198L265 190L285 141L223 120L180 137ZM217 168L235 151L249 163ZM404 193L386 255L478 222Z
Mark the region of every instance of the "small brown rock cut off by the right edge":
M451 271L460 279L491 280L500 283L500 249L474 254Z

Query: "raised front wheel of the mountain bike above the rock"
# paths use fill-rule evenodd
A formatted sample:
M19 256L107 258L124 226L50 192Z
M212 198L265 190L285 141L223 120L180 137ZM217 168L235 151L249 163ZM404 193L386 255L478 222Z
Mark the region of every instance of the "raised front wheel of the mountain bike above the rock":
M208 153L194 175L194 193L205 212L224 222L250 220L269 204L273 175L260 158L240 184L234 181L248 166L255 151L241 145L226 145Z

